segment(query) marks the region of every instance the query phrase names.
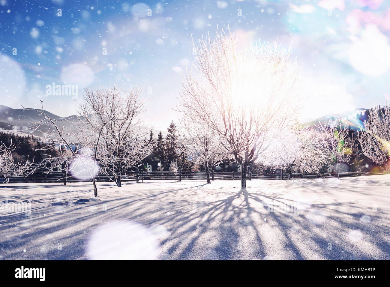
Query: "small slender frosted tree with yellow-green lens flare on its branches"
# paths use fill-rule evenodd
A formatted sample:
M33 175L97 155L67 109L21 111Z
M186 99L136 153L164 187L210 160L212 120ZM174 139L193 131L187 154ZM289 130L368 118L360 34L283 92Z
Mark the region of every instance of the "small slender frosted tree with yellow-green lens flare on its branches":
M355 138L349 136L348 126L341 119L330 119L327 124L318 123L323 138L324 149L328 158L335 161L337 178L339 177L339 165L349 163Z

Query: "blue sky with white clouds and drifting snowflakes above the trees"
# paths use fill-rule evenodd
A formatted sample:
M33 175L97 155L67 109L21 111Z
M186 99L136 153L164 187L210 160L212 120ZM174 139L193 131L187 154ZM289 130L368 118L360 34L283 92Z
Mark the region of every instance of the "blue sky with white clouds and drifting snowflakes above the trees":
M229 25L243 46L291 44L312 95L304 118L383 105L390 99L389 2L0 0L0 105L39 107L42 100L67 116L83 87L138 84L149 98L145 121L165 130L177 117L178 72L193 60L191 35L214 35L217 25ZM53 82L77 84L78 99L46 95Z

